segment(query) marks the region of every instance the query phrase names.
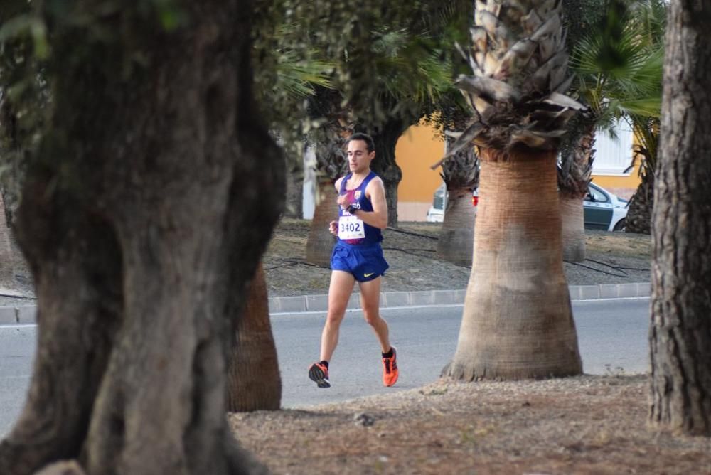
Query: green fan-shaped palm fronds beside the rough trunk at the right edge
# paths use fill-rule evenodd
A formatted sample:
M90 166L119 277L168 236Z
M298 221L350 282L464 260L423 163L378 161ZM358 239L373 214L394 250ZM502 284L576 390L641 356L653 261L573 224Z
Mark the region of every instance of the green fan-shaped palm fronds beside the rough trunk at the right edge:
M620 119L640 142L641 173L653 173L664 56L663 0L609 0L604 16L579 40L570 61L574 89L599 129L613 134Z

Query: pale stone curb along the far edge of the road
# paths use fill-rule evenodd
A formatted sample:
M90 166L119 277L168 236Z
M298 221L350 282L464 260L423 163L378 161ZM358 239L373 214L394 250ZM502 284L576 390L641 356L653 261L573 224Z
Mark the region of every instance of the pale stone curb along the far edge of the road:
M651 284L596 284L570 285L570 299L597 300L624 297L649 297ZM466 290L419 290L412 292L380 292L380 307L383 309L407 306L456 305L464 303ZM348 301L348 309L360 308L360 295L353 294ZM306 311L326 311L328 295L298 295L294 297L272 297L269 299L270 314L301 313ZM35 324L35 305L0 306L0 326Z

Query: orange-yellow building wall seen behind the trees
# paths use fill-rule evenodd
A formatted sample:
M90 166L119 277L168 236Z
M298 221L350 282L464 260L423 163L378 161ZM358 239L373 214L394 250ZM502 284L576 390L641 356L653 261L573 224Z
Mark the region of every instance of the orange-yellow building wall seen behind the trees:
M397 214L402 221L419 221L427 217L432 195L442 184L441 169L429 168L444 155L444 142L434 127L413 125L397 141L395 161L402 169L397 187ZM626 176L596 175L592 181L621 198L629 198L639 184L638 164Z

